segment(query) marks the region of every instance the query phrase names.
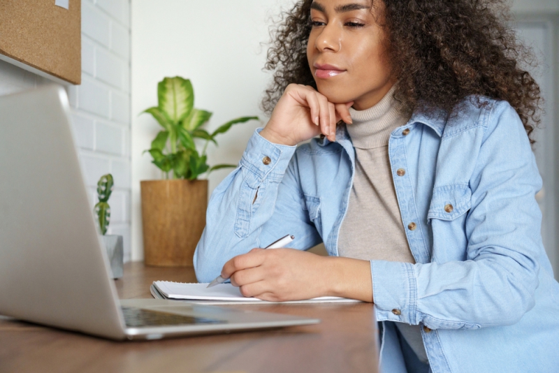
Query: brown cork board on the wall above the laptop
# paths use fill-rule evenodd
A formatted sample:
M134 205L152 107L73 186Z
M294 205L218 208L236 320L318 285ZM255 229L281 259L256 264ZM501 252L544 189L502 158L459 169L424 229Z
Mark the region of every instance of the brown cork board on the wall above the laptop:
M59 1L0 0L0 54L79 85L81 1L69 0L68 9L55 2Z

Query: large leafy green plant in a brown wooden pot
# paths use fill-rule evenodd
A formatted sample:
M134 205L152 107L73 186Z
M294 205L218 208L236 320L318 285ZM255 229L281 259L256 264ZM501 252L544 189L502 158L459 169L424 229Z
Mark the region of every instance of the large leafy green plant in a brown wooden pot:
M194 108L190 80L175 76L157 85L158 105L144 110L157 120L161 131L145 152L161 169L164 180L140 182L144 261L146 265L191 266L194 249L205 227L208 180L199 180L233 164L208 165L210 142L234 124L258 117L240 117L219 126L212 133L203 126L211 112ZM203 142L201 152L198 145Z

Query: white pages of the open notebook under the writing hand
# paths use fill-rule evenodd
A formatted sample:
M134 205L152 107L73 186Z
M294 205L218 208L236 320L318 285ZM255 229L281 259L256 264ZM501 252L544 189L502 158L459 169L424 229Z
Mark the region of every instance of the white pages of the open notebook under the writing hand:
M257 298L243 296L239 288L231 284L217 284L208 288L208 284L184 284L170 281L154 281L157 289L167 298L191 300L227 300L236 302L266 302ZM346 300L339 297L312 298L314 302L328 302L331 300ZM352 300L349 300L352 301Z

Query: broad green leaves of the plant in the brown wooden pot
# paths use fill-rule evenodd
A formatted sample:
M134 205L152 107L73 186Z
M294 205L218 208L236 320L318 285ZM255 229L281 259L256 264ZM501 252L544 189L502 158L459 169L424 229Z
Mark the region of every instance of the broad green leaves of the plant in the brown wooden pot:
M157 85L157 98L159 105L149 108L144 112L150 113L163 131L157 134L152 141L149 152L155 166L159 167L169 178L173 171L173 178L196 180L203 173L210 173L219 168L235 168L233 164L218 164L210 168L206 162L208 144L217 145L215 137L225 133L233 124L245 123L258 117L240 117L233 119L218 129L209 133L201 127L210 120L211 112L194 108L194 89L190 80L175 76L164 78ZM195 138L205 140L201 153L196 149Z

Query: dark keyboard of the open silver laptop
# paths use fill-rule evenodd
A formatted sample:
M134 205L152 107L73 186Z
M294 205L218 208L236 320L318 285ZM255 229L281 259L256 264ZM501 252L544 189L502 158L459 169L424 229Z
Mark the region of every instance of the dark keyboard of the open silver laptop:
M142 326L177 326L226 323L226 321L223 320L170 314L168 312L152 311L150 309L133 307L122 307L122 313L124 314L126 326L130 328L138 328Z

